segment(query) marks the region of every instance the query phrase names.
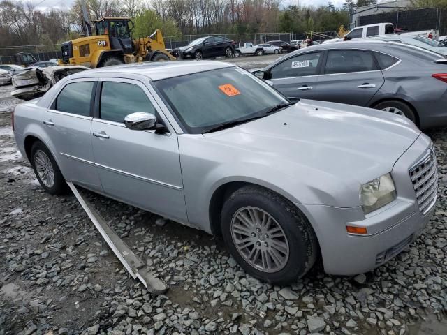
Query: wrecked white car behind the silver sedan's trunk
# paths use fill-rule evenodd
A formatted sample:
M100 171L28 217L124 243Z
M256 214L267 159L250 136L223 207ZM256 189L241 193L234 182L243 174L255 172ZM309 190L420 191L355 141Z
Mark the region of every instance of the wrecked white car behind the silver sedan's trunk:
M43 96L54 84L68 75L89 70L85 66L48 66L31 68L13 77L11 96L25 101Z

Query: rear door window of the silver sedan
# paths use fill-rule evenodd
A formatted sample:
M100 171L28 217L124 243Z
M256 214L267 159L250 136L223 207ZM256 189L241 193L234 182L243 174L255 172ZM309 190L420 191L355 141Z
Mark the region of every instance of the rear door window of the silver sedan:
M93 86L94 82L73 82L66 85L57 96L55 109L89 117Z

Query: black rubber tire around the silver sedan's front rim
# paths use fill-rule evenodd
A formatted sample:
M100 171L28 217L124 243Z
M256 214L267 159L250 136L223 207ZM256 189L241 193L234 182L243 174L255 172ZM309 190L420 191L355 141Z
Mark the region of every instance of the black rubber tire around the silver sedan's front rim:
M244 207L256 207L267 212L283 230L289 252L284 267L279 271L261 271L249 264L237 250L233 241L231 223L237 211ZM272 284L288 285L297 281L312 268L318 255L316 235L307 218L293 203L281 195L258 186L244 186L230 195L221 211L221 231L231 255L242 269L254 278Z

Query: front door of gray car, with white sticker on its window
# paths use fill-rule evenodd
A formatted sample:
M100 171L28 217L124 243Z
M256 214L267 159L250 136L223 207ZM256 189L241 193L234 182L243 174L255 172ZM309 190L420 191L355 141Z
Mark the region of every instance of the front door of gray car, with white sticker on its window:
M318 74L323 52L309 52L289 57L270 68L273 87L293 98L318 99Z

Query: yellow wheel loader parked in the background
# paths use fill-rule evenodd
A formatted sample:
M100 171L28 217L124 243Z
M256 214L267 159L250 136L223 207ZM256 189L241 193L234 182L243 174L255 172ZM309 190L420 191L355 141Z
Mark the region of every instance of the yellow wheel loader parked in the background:
M60 65L99 68L124 63L175 59L166 51L159 29L150 36L134 39L129 17L104 17L94 21L94 25L96 35L62 43Z

